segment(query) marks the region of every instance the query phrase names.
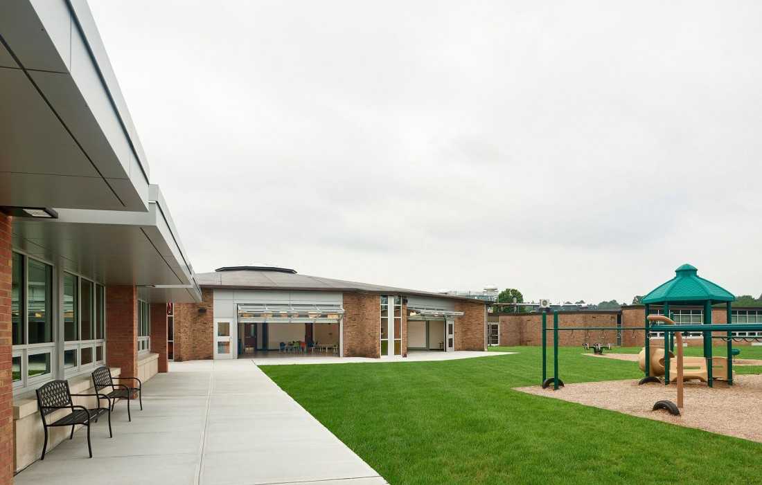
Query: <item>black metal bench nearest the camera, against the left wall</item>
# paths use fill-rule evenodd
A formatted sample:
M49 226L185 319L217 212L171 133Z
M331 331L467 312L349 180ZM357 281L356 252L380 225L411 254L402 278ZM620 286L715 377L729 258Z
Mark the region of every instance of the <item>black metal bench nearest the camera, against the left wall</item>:
M98 397L98 407L94 409L88 409L85 406L75 406L72 404L72 396L78 397ZM109 404L107 407L101 407L101 398L105 399ZM40 460L45 459L45 451L47 448L48 431L47 429L53 426L72 426L72 433L69 435L69 439L74 438L74 426L82 424L88 427L88 451L90 458L93 458L93 448L90 445L90 423L98 423L98 416L103 413L108 413L108 434L111 438L114 437L114 433L111 432L111 404L110 399L105 394L72 394L69 391L68 381L51 381L44 384L41 388L37 389L37 407L40 408L40 416L43 419L43 429L45 430L45 442L43 443L43 456ZM66 416L62 416L59 419L48 423L45 416L53 413L56 410L68 409L70 412Z

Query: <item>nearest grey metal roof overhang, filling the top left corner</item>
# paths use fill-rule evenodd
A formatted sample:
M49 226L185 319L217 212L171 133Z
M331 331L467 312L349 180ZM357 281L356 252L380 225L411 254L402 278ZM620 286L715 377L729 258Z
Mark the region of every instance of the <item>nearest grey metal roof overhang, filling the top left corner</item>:
M0 206L146 212L149 168L83 0L0 2Z

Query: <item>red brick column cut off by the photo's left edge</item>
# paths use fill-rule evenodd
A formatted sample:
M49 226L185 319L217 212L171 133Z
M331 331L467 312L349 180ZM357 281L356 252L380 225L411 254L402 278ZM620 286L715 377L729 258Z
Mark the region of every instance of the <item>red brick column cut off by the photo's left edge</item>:
M11 283L13 220L0 209L0 483L13 482L13 375L11 374Z

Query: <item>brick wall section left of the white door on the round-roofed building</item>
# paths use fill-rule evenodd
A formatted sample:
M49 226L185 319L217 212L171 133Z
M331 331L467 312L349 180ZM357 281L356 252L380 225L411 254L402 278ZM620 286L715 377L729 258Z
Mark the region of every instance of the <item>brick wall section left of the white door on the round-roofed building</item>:
M207 311L199 313L199 308ZM174 305L174 360L214 358L214 293L201 290L200 303Z

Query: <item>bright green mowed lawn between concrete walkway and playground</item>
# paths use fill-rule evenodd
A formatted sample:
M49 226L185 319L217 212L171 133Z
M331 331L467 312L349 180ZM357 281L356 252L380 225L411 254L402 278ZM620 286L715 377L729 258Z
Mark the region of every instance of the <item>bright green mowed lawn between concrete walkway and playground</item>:
M261 369L395 485L762 480L759 443L514 391L539 386L540 349L498 350L518 354ZM559 349L566 383L642 377L581 353Z

